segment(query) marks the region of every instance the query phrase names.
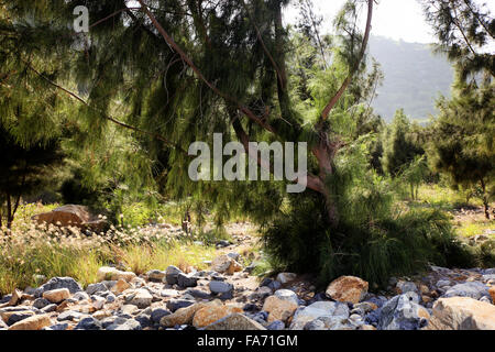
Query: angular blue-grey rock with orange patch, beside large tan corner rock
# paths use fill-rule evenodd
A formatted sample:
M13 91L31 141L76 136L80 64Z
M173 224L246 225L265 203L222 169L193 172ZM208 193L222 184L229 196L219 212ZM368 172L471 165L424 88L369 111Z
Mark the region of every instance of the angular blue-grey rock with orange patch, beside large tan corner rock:
M395 296L381 308L378 329L419 330L428 323L428 311L409 300L406 295Z

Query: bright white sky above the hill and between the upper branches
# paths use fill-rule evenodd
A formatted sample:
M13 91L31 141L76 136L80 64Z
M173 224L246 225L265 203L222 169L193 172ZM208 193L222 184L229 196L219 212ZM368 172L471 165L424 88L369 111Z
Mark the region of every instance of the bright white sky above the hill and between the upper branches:
M314 0L317 12L326 19L323 32L331 31L337 12L345 0ZM495 13L495 1L487 1L492 13ZM295 22L297 10L289 7L284 10L287 22ZM365 16L365 11L363 13ZM373 14L372 35L391 37L409 43L430 44L436 42L431 28L425 21L421 7L417 0L380 0Z

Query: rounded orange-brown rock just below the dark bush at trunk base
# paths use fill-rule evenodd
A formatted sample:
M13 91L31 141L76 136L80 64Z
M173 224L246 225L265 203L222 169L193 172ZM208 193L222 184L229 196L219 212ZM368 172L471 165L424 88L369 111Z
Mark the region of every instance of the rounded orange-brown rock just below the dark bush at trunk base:
M355 276L341 276L327 288L327 296L338 301L360 302L367 294L369 284Z

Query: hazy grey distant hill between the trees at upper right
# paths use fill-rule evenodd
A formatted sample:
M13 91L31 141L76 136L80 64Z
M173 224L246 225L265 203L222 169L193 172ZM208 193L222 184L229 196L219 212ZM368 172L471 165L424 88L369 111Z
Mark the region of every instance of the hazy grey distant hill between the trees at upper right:
M397 42L382 36L370 38L370 54L382 65L384 85L373 107L386 121L404 108L413 120L436 113L439 94L450 96L453 69L446 57L427 44Z

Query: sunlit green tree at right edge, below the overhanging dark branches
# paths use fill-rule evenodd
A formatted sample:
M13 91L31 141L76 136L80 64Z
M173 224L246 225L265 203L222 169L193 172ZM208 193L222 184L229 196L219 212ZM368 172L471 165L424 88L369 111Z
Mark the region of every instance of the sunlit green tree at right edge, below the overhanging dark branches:
M495 178L494 87L458 80L453 98L438 102L440 114L430 128L428 147L432 168L448 175L454 185L473 189L472 195L483 200L487 218Z

